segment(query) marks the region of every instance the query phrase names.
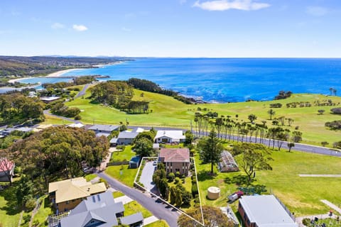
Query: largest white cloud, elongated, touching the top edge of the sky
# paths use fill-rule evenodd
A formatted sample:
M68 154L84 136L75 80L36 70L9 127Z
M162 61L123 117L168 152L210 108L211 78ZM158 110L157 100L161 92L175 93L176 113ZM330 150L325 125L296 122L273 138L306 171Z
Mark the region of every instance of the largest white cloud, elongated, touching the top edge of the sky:
M254 0L215 0L215 1L196 1L193 7L199 7L208 11L225 11L229 9L239 10L259 10L271 6L267 3L255 2Z

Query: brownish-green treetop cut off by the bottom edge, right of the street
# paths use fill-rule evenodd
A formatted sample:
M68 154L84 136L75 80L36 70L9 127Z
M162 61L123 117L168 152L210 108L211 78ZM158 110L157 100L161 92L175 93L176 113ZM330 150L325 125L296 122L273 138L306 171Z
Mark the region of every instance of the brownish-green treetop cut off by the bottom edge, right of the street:
M202 214L199 207L195 207L194 209L190 209L186 212L189 216L193 217L189 218L185 214L181 214L178 218L178 226L179 227L201 227L202 224L202 216L204 218L204 225L207 227L232 227L234 223L222 213L222 211L213 206L202 206ZM200 222L200 223L198 223Z

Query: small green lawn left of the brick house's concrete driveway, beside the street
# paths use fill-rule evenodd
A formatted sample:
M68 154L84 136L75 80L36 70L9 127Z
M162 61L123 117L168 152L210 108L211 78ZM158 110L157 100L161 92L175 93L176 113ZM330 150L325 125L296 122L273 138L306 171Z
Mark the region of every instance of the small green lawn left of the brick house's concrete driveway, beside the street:
M112 165L107 167L107 175L118 179L129 187L134 187L134 179L138 169L129 169L129 165Z

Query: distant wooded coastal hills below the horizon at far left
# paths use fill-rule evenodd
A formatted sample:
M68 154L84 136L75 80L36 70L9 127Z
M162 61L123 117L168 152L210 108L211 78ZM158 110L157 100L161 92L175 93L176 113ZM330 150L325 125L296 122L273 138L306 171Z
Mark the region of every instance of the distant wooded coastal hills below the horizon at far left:
M31 77L75 67L119 62L118 57L0 56L0 77Z

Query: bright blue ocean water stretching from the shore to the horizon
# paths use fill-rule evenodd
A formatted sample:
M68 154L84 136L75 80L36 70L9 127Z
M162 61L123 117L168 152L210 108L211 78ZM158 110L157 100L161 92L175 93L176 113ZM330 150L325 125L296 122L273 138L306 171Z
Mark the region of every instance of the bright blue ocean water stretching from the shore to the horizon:
M341 59L316 58L137 58L119 65L64 75L102 74L110 79L148 79L166 89L210 102L271 100L278 91L341 94ZM67 79L23 79L58 82Z

